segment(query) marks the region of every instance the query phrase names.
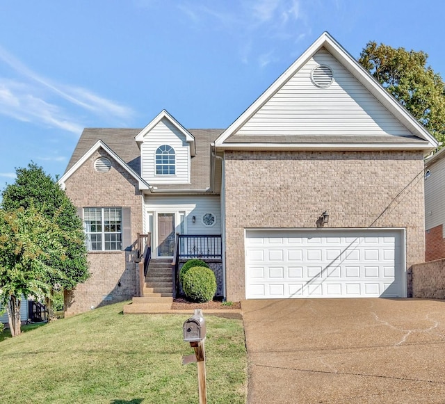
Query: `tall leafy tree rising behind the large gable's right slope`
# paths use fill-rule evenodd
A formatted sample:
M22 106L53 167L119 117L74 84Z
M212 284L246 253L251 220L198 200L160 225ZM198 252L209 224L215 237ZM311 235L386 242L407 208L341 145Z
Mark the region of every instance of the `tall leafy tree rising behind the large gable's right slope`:
M369 42L359 63L435 138L445 141L445 83L426 65L428 54Z

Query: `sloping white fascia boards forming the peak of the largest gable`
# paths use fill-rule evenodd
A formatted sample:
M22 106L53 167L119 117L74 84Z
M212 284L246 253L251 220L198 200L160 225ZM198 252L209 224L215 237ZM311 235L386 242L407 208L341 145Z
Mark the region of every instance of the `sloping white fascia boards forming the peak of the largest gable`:
M362 83L408 130L415 136L423 138L430 143L430 150L438 145L437 140L428 132L397 100L392 97L385 88L380 86L371 74L360 65L339 42L334 40L330 33L324 32L320 37L262 94L257 100L247 108L220 136L215 140L215 145L222 146L225 140L235 134L245 122L247 122L261 106L268 102L280 88L289 81L300 68L312 58L322 47L336 57L343 67L346 68L355 78Z

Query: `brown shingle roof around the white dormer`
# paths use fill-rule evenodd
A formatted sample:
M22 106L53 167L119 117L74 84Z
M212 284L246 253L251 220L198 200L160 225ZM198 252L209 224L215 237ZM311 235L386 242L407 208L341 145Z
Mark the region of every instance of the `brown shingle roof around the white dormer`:
M125 163L140 175L140 150L134 138L141 130L142 129L112 128L83 129L65 172L67 172L76 161L81 159L83 154L88 152L97 140L102 140L115 154L118 154ZM224 129L188 129L188 131L195 136L196 144L196 156L191 159L191 184L156 184L157 188L166 190L203 190L209 187L210 143L223 133L223 130Z

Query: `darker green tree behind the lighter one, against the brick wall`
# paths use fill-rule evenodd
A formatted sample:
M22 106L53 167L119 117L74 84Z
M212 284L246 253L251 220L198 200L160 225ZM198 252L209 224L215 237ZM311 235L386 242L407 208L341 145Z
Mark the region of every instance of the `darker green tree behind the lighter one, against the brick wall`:
M59 270L51 276L50 283L53 288L47 296L51 319L54 316L52 310L54 290L73 289L90 277L85 234L81 219L77 216L76 207L42 167L30 163L27 168L17 168L16 173L15 183L6 186L3 191L3 209L15 211L19 207L29 209L34 206L44 218L51 220L60 228L62 233L59 241L66 248L65 257L52 254L49 258L51 261L47 262L48 265ZM70 236L66 237L66 234ZM63 273L63 277L58 275L60 273Z

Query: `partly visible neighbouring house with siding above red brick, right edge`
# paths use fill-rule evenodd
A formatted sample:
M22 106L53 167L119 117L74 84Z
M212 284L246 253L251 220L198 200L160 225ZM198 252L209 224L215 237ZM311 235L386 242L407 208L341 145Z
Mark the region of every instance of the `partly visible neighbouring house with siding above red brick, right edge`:
M425 161L425 261L445 258L445 149Z

